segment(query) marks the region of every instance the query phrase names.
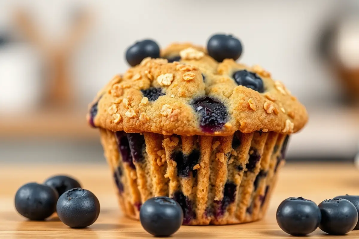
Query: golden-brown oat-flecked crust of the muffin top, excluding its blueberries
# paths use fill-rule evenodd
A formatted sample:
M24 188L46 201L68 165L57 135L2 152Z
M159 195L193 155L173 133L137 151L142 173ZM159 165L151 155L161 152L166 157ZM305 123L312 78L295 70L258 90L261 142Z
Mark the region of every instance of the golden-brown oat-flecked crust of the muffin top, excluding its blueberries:
M185 136L227 136L236 130L291 134L306 124L305 107L269 72L231 59L218 63L205 53L201 47L172 44L162 56L180 54L181 62L146 58L122 77L114 77L94 101L101 96L94 124L112 131ZM264 82L265 92L238 86L232 78L238 70L256 72ZM148 101L140 90L149 87L162 87L165 95ZM191 106L194 99L206 95L221 101L229 113L228 122L218 132L203 132L199 116Z

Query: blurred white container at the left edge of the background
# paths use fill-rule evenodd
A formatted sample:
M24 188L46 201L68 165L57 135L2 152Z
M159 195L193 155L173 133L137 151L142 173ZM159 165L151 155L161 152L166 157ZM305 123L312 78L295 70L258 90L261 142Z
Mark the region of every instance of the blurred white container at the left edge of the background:
M41 61L33 48L0 33L0 113L34 110L42 92Z

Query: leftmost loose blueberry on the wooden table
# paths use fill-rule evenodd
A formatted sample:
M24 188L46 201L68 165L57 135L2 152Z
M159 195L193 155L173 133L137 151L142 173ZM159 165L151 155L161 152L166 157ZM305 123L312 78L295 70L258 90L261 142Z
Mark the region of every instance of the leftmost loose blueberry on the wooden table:
M55 212L58 198L59 195L52 187L27 183L15 194L15 208L25 218L44 220Z

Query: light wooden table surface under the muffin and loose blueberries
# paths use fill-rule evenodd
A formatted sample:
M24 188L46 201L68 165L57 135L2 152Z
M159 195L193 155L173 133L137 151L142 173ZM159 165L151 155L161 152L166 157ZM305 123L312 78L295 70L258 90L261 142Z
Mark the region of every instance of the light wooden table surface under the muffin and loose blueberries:
M24 183L43 182L50 175L67 173L97 195L98 220L86 229L71 229L56 216L27 221L14 209L14 195ZM121 215L106 164L17 164L0 166L0 238L153 238L138 221ZM359 194L359 171L349 164L287 164L280 172L275 195L264 220L242 225L182 226L172 238L294 238L278 227L275 211L287 197L302 196L319 204L345 193ZM359 238L359 231L329 236L317 229L309 238Z

